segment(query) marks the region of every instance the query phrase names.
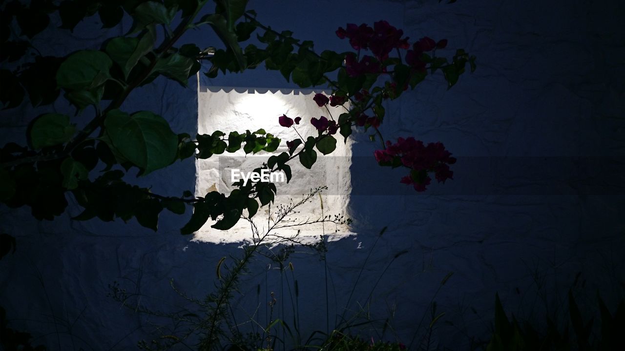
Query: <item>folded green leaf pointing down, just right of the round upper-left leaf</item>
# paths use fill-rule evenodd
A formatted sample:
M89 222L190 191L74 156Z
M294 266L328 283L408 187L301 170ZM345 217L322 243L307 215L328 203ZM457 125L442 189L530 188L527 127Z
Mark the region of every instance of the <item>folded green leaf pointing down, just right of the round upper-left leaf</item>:
M136 66L139 59L154 47L156 32L149 26L139 37L114 37L106 44L105 51L121 67L124 77Z

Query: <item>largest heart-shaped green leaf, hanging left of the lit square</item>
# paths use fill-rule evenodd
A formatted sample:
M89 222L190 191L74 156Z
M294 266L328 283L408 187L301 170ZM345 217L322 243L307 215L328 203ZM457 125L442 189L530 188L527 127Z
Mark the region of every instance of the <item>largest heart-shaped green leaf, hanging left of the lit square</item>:
M114 149L144 174L169 166L176 159L178 136L161 116L149 111L128 116L113 110L106 115L104 126Z

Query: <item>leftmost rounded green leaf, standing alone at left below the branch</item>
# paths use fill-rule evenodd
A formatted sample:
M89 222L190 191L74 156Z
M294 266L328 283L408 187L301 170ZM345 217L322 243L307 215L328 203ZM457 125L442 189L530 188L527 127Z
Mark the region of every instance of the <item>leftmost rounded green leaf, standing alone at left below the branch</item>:
M30 139L33 149L56 146L68 142L76 132L76 126L69 123L64 114L42 114L32 122Z

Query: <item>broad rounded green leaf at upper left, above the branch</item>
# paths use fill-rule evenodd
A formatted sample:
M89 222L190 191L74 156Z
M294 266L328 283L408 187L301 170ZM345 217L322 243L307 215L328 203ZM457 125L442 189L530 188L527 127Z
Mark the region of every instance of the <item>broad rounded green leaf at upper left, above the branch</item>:
M64 89L86 89L101 86L111 77L111 58L102 51L74 52L63 61L56 72L56 82Z

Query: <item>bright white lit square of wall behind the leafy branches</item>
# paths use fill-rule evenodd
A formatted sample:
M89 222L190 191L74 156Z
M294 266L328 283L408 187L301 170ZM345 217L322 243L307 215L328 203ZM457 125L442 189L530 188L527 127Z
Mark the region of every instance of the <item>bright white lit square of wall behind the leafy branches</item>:
M204 87L198 92L198 116L197 131L199 134L212 134L214 131L229 133L237 131L244 133L257 129L264 129L281 139L279 148L271 154L261 151L255 155L245 155L241 149L229 154L212 156L209 159L196 161L196 195L204 196L207 192L217 190L229 194L232 189L232 169L241 172L249 172L266 162L272 154L287 151L286 141L299 138L294 128L285 128L278 124L278 117L282 114L295 118L302 117L297 132L302 137L317 136L317 131L310 124L312 117L329 117L325 107L319 107L312 100L314 93L322 91L292 91L291 89L247 89L228 87ZM330 107L334 119L345 112L343 107ZM337 134L338 135L338 134ZM308 194L311 188L327 186L321 199L316 197L314 201L298 207L301 211L294 221L304 219L317 219L322 215L343 214L346 215L349 193L351 192L351 177L349 166L351 165L351 142L342 142L342 137L337 137L336 151L328 156L322 156L317 152L317 162L311 170L301 166L297 160L289 162L293 178L289 184L276 183L277 196L274 204L261 207L254 217L260 230L267 227L267 216L275 212L276 205L287 204L293 200L301 199L302 194ZM321 209L321 200L323 209ZM246 211L244 211L246 214ZM205 242L242 242L251 239L250 224L246 220L240 220L230 230L215 230L210 227L214 224L211 220L201 230L196 232L195 240ZM346 226L334 224L313 224L302 226L302 236L309 240L316 240L319 235L332 234L331 239L339 239L352 234ZM281 235L292 235L296 229L283 229ZM339 230L336 232L336 230Z

